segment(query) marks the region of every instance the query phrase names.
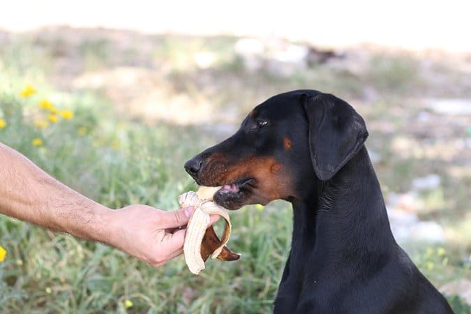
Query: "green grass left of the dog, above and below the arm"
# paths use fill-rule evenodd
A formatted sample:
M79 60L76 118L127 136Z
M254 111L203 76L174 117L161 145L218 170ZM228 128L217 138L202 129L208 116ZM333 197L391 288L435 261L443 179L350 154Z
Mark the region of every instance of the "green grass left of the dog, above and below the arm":
M103 111L91 110L94 96L70 97L75 117L38 130L31 118L44 115L35 107L40 96L24 100L3 91L0 108L8 126L0 131L0 141L112 208L138 202L176 209L178 195L195 188L182 165L211 144L211 137L192 127L101 119L107 109L103 101ZM78 133L81 127L87 128L86 135ZM31 144L36 137L43 139L42 146ZM267 313L289 249L290 209L281 203L264 210L248 207L232 216L239 227L231 246L244 262L209 261L201 276L190 274L181 257L154 269L102 244L2 216L1 245L8 251L0 264L2 311ZM126 300L131 308L124 306Z

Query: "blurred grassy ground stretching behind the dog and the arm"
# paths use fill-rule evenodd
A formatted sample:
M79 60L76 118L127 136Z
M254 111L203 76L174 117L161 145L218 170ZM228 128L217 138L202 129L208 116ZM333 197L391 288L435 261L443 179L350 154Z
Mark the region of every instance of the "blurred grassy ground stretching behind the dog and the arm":
M471 118L430 106L471 98L469 54L365 45L299 64L251 59L237 52L239 39L3 31L0 141L109 207L172 210L181 192L195 188L184 162L230 135L252 107L292 89L330 92L366 119L386 199L408 193L417 177L440 176L440 184L414 194L419 206L410 210L442 226L444 241L403 245L437 287L471 279ZM36 93L22 97L27 84ZM48 120L44 99L73 119ZM290 206L248 206L231 218L230 248L241 260L209 261L193 276L181 257L154 269L102 244L0 216L8 251L0 263L1 312L270 313L290 249ZM456 313L469 313L456 294L447 297Z

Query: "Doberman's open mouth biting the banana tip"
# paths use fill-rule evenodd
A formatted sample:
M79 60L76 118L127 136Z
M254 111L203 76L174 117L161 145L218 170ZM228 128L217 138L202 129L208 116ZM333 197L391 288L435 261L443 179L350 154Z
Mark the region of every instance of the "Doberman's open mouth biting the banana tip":
M239 209L248 204L248 199L254 188L254 183L255 179L246 178L235 181L231 184L223 184L222 188L214 194L214 202L226 209Z

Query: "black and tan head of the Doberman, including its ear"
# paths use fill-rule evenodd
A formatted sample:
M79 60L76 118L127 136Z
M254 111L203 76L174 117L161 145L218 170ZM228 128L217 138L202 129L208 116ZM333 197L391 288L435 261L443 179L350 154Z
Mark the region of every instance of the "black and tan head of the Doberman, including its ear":
M214 200L227 209L308 195L334 177L363 146L363 119L345 101L319 91L271 97L237 132L185 163L197 184L223 186Z

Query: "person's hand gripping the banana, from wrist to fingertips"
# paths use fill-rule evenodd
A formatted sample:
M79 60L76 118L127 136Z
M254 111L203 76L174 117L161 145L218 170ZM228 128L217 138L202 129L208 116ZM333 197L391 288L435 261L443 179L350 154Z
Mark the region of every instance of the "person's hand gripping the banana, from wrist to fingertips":
M110 213L110 240L121 251L160 267L183 253L186 224L193 207L163 211L147 205L129 205ZM211 216L210 224L218 220Z

